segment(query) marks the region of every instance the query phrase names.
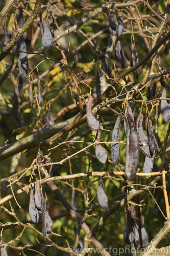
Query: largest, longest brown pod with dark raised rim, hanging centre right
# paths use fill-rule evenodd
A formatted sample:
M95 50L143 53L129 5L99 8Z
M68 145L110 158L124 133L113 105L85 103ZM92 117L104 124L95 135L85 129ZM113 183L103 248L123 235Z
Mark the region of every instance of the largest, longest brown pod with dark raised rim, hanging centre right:
M126 161L125 175L128 181L131 181L135 176L139 163L139 139L134 120L130 114L126 115L125 122L127 126L127 141L126 141Z

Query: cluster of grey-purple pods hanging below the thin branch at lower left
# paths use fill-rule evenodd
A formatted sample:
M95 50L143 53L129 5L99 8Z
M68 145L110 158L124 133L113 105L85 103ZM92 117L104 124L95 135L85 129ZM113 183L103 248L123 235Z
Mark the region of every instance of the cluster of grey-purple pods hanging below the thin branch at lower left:
M42 214L42 222L43 222L42 233L43 233L44 239L46 239L47 234L51 235L53 223L49 215L48 203L45 202L45 198L40 189L40 182L36 178L36 181L34 182L34 186L31 186L30 204L29 204L30 218L34 223L38 223L39 213Z

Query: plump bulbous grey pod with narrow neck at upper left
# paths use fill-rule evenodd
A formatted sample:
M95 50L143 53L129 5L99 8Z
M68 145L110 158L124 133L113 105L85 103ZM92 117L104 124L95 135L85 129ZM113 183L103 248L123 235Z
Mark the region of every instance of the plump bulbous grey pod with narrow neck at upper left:
M48 27L48 24L45 19L42 19L41 12L39 13L39 19L40 19L40 28L41 28L41 36L42 36L42 44L46 51L50 49L53 45L53 37L51 34L51 31Z

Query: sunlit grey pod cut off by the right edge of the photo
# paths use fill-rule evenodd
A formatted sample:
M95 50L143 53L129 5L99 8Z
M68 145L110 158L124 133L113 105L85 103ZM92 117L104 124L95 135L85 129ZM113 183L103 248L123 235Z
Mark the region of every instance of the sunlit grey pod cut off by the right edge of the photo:
M167 97L167 85L166 83L164 83L164 87L162 90L162 98L166 98L166 97ZM164 121L167 123L170 123L170 107L168 105L167 100L160 101L160 111Z

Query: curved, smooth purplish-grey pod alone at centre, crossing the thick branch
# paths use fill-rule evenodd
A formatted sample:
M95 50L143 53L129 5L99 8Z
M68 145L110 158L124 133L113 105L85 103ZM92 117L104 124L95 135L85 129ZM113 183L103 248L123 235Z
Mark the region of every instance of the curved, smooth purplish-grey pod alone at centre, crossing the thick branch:
M93 98L90 94L88 102L87 102L87 123L92 131L98 131L100 127L99 120L92 114L91 106L92 106Z

